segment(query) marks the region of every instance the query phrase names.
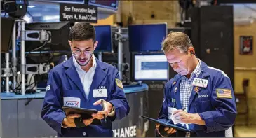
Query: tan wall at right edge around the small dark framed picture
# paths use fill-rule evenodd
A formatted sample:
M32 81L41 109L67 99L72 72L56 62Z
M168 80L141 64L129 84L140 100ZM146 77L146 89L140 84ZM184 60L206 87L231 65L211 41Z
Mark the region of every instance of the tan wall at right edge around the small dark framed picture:
M253 36L253 54L252 55L240 55L239 54L239 39L241 35ZM248 87L248 101L249 101L249 118L250 124L256 125L256 23L252 25L234 26L234 90L236 93L243 92L242 81L243 78L250 79ZM238 69L238 67L244 67L244 70ZM254 70L250 70L253 69ZM238 116L237 123L243 124L245 116Z

